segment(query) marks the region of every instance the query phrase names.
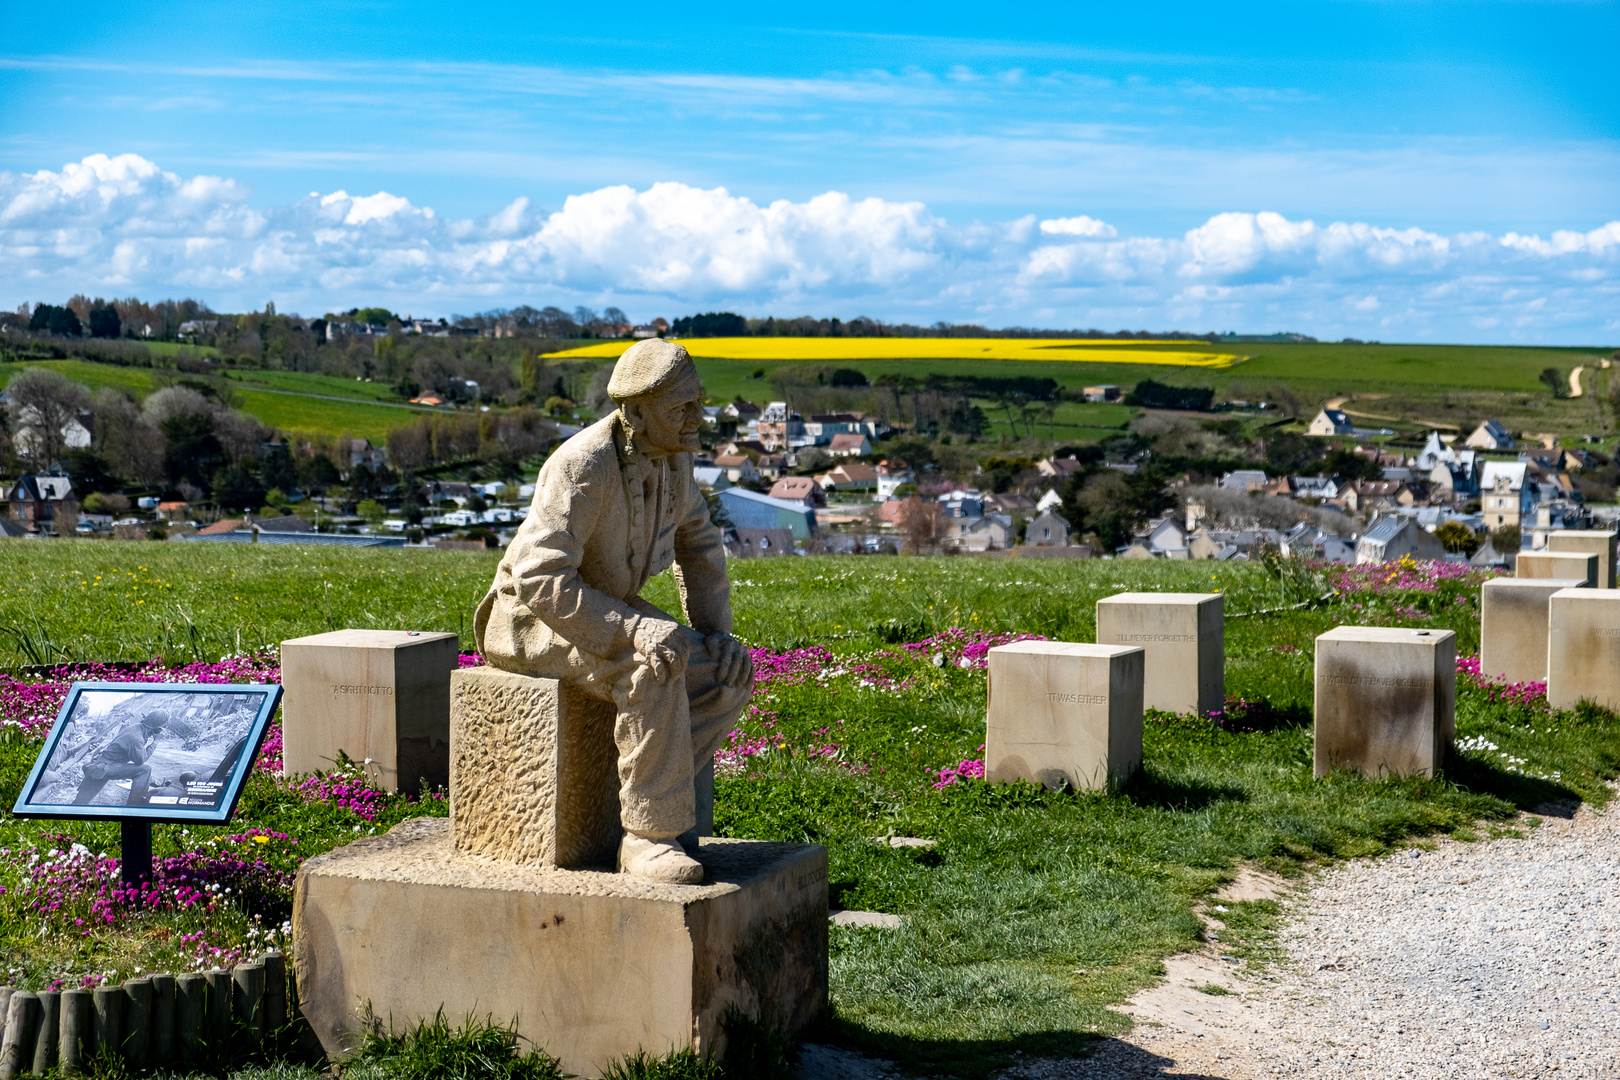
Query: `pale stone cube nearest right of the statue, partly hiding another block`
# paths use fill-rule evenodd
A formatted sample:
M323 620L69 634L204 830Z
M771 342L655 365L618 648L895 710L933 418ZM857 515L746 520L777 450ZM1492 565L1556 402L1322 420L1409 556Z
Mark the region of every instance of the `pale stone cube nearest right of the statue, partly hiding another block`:
M1014 641L990 649L985 776L1079 790L1142 764L1140 646Z

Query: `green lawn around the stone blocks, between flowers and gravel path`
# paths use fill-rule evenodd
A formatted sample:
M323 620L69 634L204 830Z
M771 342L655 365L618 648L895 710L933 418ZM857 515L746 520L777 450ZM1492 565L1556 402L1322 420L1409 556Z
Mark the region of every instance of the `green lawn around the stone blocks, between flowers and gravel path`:
M217 659L335 627L447 630L470 648L471 609L496 563L478 552L94 541L0 541L0 628L11 630L0 664ZM1076 1054L1123 1030L1110 1006L1153 983L1165 955L1199 944L1194 907L1244 863L1298 874L1426 834L1524 827L1518 811L1602 803L1620 774L1612 714L1500 704L1460 678L1458 737L1490 748L1458 755L1437 779L1312 779L1314 636L1340 623L1447 627L1460 654L1473 653L1477 581L1249 615L1324 583L1259 563L974 557L761 559L731 573L737 631L770 649L773 677L744 717L739 764L718 782L718 831L825 844L834 904L906 915L899 931L834 928L834 1012L816 1038L927 1074L983 1077L1014 1051ZM936 787L941 769L982 758L985 737L985 675L956 665L953 631L1090 641L1102 596L1212 589L1226 597L1228 695L1260 704L1231 709L1226 727L1150 716L1144 769L1119 793ZM677 602L669 575L646 596ZM32 750L0 753L15 784ZM288 865L352 834L324 803L288 800L267 779L254 790L235 829L305 837L279 857ZM411 813L442 810L397 801L379 824L353 827ZM6 821L0 844L26 847L39 831ZM68 831L92 850L110 842L105 826ZM938 844L896 850L872 839L888 834ZM40 975L65 963L49 933L34 936L37 918L8 904L0 897L8 962ZM1223 949L1264 973L1275 910L1239 905L1226 923ZM115 968L136 955L125 939L97 947L83 962Z

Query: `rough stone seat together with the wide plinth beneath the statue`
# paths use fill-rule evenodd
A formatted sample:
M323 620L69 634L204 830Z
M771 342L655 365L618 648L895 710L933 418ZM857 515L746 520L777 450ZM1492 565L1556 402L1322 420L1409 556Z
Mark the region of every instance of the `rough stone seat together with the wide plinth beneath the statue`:
M612 717L551 678L455 672L450 819L298 871L298 994L329 1054L366 1009L399 1030L442 1007L601 1075L637 1051L724 1054L732 1007L789 1033L825 1009L826 848L703 837L701 884L612 873Z

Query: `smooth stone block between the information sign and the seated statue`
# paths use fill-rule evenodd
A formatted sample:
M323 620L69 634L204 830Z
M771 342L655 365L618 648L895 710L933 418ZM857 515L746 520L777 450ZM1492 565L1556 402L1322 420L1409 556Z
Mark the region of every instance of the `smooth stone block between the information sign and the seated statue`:
M282 641L282 761L330 769L339 751L371 782L416 792L450 779L454 633L334 630Z

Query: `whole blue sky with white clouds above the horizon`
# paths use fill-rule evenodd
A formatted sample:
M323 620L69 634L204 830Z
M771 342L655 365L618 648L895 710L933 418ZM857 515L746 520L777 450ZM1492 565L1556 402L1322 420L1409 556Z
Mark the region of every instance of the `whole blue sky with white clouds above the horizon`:
M1620 338L1620 3L5 23L6 304Z

